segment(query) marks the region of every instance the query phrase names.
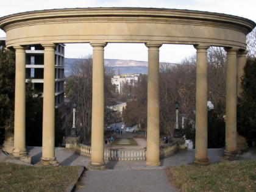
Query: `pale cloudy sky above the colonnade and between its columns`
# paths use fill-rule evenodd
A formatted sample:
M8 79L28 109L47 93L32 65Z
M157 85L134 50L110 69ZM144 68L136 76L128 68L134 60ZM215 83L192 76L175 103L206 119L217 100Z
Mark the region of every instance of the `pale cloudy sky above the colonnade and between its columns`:
M256 22L255 0L1 0L0 17L14 13L43 9L76 7L154 7L189 9L241 16ZM0 37L5 32L0 29ZM78 51L81 50L81 51ZM180 62L195 54L193 46L164 44L160 48L160 62ZM90 44L66 44L65 55L79 58L92 53ZM105 59L148 60L148 48L144 44L111 43L105 47Z

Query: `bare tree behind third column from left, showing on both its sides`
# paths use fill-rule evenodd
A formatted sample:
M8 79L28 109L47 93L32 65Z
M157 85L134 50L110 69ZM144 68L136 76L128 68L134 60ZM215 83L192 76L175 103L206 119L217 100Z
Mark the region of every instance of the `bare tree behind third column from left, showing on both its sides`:
M93 59L89 55L86 58L76 60L71 66L71 76L66 80L66 96L69 99L70 108L73 102L77 103L76 123L84 132L84 143L91 141L91 105L92 105L92 70ZM113 104L115 100L115 87L111 84L113 69L105 67L104 70L104 103ZM105 110L107 116L107 110ZM69 115L72 118L72 115ZM106 119L106 118L105 118ZM67 119L71 121L71 119Z

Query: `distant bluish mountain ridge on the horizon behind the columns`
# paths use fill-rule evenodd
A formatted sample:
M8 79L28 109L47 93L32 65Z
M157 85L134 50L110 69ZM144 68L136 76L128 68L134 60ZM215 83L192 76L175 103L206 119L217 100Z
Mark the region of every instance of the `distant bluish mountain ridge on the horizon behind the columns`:
M68 77L71 71L71 65L79 59L65 58L65 76ZM176 63L167 63L169 65L176 65ZM110 66L115 69L115 74L118 74L118 69L121 74L142 73L148 74L148 62L141 62L135 60L121 60L121 59L105 59L105 66Z

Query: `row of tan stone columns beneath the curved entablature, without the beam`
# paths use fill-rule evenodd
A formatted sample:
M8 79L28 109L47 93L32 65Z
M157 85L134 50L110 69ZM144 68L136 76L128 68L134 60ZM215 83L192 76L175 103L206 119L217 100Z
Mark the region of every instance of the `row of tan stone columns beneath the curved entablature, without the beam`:
M91 133L91 169L105 169L104 162L104 47L107 43L91 43L93 46L93 112ZM41 163L55 165L54 152L54 48L44 47L44 98L43 145ZM148 47L148 140L146 166L160 166L159 157L159 48L162 44L146 43ZM195 45L196 62L196 153L194 164L208 165L207 156L207 49ZM25 143L25 47L16 49L15 87L15 138L13 155L29 162ZM221 160L236 158L236 81L243 75L246 51L226 48L227 51L227 101L226 101L226 149ZM239 57L236 55L239 54ZM237 72L236 72L237 71ZM27 159L27 160L26 160Z

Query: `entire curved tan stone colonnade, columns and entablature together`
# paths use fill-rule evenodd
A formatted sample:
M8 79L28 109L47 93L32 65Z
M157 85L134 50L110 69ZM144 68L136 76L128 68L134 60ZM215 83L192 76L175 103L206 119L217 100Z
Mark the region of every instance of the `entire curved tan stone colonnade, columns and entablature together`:
M44 48L43 146L41 163L57 163L54 152L55 47L60 43L90 43L93 47L93 101L90 169L104 162L104 47L107 43L144 43L148 48L148 138L146 166L160 166L159 48L162 44L192 44L196 49L196 153L194 164L208 165L207 49L227 51L226 149L233 160L236 146L237 66L246 63L246 35L255 23L238 16L176 9L91 8L54 9L18 13L0 18L7 48L16 50L15 135L16 158L26 158L25 63L26 46ZM238 59L238 55L239 58ZM239 68L241 70L241 68Z

